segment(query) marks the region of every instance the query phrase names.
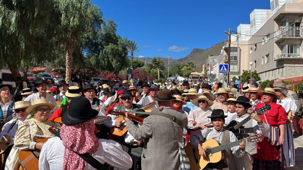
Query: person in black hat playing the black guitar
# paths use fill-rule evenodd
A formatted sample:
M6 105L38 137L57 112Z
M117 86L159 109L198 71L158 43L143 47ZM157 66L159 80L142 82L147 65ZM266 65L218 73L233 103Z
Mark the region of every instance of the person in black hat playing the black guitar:
M236 115L232 116L232 120L241 122L247 117L251 119L246 122L243 126L245 133L248 135L255 135L256 133L261 133L264 136L268 136L269 128L268 125L263 123L262 119L256 113L248 113L248 109L251 107L249 104L250 100L245 96L239 96L235 101L236 103ZM229 165L230 169L234 170L252 170L252 155L257 153L257 144L254 142L247 143L245 147L245 154L242 157L232 156L231 163Z

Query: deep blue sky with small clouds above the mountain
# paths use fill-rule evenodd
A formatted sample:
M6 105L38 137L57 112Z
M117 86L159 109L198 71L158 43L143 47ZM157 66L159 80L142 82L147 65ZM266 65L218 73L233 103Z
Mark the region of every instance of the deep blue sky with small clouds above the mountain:
M193 48L224 41L231 28L250 24L254 9L270 9L270 0L102 0L92 1L105 19L116 22L122 38L137 42L134 57L186 57Z

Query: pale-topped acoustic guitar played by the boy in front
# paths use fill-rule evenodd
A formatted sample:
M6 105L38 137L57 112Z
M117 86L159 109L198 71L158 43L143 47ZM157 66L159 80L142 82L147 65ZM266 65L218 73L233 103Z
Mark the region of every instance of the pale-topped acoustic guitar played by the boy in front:
M208 163L217 163L221 160L222 154L220 151L225 149L238 146L242 141L247 142L258 142L264 139L264 135L256 134L231 142L225 145L219 145L215 139L208 139L204 143L200 143L206 152L206 157L199 155L199 149L195 148L191 143L188 143L185 147L185 153L188 156L191 170L202 170Z

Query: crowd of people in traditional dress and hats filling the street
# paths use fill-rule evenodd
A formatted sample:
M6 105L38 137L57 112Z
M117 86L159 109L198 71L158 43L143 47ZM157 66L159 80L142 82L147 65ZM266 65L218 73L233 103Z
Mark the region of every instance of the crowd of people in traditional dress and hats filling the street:
M215 139L223 145L255 134L264 140L242 141L220 151L221 160L205 169L280 170L295 165L293 133L298 131L291 118L302 103L280 79L264 90L254 79L243 85L229 82L226 88L208 81L138 79L115 81L111 87L85 79L75 84L73 79L61 80L57 88L39 79L15 101L12 86L0 84L0 119L5 120L0 142L7 145L0 148L5 150L2 169L20 169L18 154L29 150L40 152L31 158L38 159L41 170L189 169L186 154L181 154L187 145L206 159L210 153L201 142ZM265 105L270 109L255 112ZM96 123L105 117L104 124ZM233 121L246 121L244 133L226 130ZM60 135L50 131L56 127Z

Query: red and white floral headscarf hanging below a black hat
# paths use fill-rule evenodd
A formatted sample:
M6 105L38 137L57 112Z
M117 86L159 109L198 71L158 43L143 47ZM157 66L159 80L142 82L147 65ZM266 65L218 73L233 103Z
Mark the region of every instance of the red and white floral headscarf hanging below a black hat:
M73 151L93 155L99 148L99 139L94 133L94 119L74 125L63 125L60 135L64 150L63 170L82 170L87 162Z

